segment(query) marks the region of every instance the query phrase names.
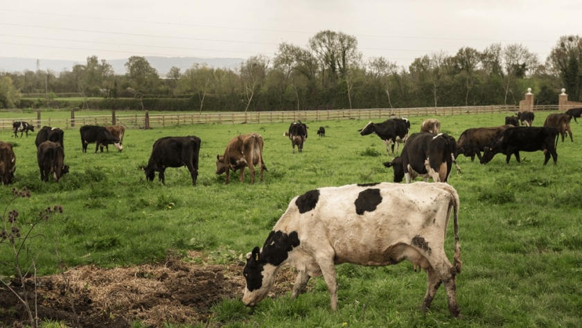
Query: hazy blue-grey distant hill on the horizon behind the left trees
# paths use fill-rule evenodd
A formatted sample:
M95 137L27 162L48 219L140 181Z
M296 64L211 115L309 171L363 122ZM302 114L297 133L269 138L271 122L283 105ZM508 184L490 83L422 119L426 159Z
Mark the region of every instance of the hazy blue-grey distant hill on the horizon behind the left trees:
M102 58L99 58L101 60ZM203 64L206 63L209 67L220 67L220 68L230 68L234 69L240 66L241 62L245 60L243 58L196 58L196 57L156 57L156 56L145 56L145 59L150 62L150 65L157 69L159 76L164 77L170 71L170 68L175 66L184 72L186 69L192 67L193 64ZM125 59L114 59L105 60L110 64L115 74L125 74ZM68 70L71 71L76 64L87 64L85 61L73 61L73 60L49 60L49 59L39 59L39 69L51 69L55 73L60 73L61 71ZM0 57L0 71L6 72L23 72L36 71L37 70L37 60L33 58L6 58Z

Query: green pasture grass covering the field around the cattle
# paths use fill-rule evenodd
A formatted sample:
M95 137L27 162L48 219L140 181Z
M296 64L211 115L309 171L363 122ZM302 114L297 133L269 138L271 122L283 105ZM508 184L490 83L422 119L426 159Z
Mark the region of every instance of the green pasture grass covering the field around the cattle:
M4 114L4 113L3 113ZM16 113L19 114L19 113ZM66 116L69 114L65 112ZM548 113L536 113L541 126ZM439 116L441 132L458 139L467 128L499 126L505 114ZM427 117L411 119L411 132ZM58 183L40 181L35 132L12 142L17 157L16 182L0 187L0 204L10 187L27 187L32 197L18 199L21 222L30 223L48 205L64 213L37 226L47 237L38 261L42 275L58 272L58 254L67 266L131 266L161 261L168 250L200 250L216 262L232 262L262 245L289 201L311 189L342 184L392 181L387 156L376 135L362 137L367 120L306 122L311 126L303 153L292 154L282 137L289 123L197 125L154 130L126 130L122 153L81 152L77 129L64 134L65 164L71 173ZM326 137L315 134L325 126ZM251 311L241 295L211 309L210 327L582 327L582 126L572 122L574 143L558 141L558 164L543 166L543 153L522 153L518 164L497 155L481 165L457 160L450 184L459 192L459 236L463 272L457 276L462 320L451 318L441 287L426 316L418 310L426 288L425 273L412 264L370 268L337 266L339 308L329 309L321 277L297 300L290 293L267 298ZM265 181L224 185L215 174L216 155L231 137L258 132L265 139ZM186 168L166 170L166 185L145 180L152 144L166 136L202 139L200 175L191 185ZM576 136L578 136L576 138ZM258 178L257 178L258 181ZM452 230L452 227L449 228ZM452 257L452 232L446 251ZM1 245L0 245L1 246ZM30 250L41 247L35 239ZM0 247L0 259L10 255ZM0 275L12 275L0 267ZM139 322L134 327L141 327ZM168 327L178 327L169 325ZM206 326L205 326L206 327Z

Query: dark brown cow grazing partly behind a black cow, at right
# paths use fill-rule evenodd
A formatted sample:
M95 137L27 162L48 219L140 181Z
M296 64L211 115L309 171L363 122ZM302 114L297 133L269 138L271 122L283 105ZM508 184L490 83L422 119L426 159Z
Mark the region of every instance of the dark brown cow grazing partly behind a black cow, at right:
M513 128L513 126L492 126L491 128L470 128L464 130L463 133L461 133L459 140L457 140L455 158L459 157L459 154L463 154L466 157L471 157L471 162L473 162L475 160L475 155L477 155L479 162L481 162L481 152L484 151L486 147L493 144L493 141L495 141L506 128Z

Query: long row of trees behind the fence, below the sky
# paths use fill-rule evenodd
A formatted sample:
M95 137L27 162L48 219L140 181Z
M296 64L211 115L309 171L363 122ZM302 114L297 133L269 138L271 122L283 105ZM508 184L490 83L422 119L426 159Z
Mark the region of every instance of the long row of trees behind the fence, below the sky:
M261 111L340 108L512 105L531 87L537 105L582 101L582 38L560 37L542 62L521 44L443 51L399 67L383 57L364 58L356 37L321 31L306 46L283 42L273 58L254 55L237 69L193 64L172 67L166 78L148 60L132 56L126 74L96 56L71 70L1 72L0 108L21 94L49 98L81 94L104 98L189 98L197 110ZM220 109L215 108L220 104Z

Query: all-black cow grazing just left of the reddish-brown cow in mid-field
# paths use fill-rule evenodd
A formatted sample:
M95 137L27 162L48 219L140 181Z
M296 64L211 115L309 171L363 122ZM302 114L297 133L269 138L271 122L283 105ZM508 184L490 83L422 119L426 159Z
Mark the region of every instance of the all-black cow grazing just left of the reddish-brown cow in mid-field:
M145 172L145 178L153 181L156 171L162 184L166 184L164 172L168 167L186 166L192 177L193 186L198 178L198 155L200 153L200 138L188 137L164 137L157 139L152 147L152 155L148 166L141 169Z

